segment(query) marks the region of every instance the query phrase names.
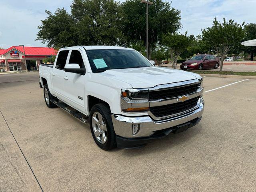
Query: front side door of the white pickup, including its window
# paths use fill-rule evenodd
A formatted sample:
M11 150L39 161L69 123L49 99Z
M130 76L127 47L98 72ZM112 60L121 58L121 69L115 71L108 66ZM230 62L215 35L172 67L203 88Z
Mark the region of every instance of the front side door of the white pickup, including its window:
M85 68L82 50L80 48L72 48L68 55L67 64L78 64L80 68ZM84 81L85 77L81 74L64 72L64 102L80 112L84 112Z

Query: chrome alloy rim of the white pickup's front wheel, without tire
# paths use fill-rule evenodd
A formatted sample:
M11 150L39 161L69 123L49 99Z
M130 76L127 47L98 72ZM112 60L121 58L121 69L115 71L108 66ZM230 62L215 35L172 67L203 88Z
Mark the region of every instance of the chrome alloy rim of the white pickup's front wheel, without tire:
M92 128L96 139L100 143L105 143L107 140L107 126L99 112L95 112L92 116Z

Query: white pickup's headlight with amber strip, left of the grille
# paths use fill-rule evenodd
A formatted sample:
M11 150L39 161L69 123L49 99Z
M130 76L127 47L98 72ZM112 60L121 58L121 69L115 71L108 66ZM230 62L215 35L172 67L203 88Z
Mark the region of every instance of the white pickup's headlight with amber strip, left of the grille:
M148 111L148 89L122 88L121 110L129 113Z

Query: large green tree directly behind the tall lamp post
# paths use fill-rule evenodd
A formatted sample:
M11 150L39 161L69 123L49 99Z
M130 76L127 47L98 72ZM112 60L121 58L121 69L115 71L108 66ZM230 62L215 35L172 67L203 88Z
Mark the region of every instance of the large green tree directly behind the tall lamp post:
M180 27L180 11L171 7L170 2L151 0L148 7L149 58L156 44L162 44L162 36L176 32ZM143 42L146 47L146 5L140 0L126 0L121 6L122 32L128 42Z

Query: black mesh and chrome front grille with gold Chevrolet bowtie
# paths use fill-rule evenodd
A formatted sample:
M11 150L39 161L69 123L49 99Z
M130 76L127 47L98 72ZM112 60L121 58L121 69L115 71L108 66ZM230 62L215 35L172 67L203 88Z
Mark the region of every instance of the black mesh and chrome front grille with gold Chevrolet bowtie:
M149 88L148 114L154 120L160 120L196 110L203 93L201 82L202 80L195 79Z

